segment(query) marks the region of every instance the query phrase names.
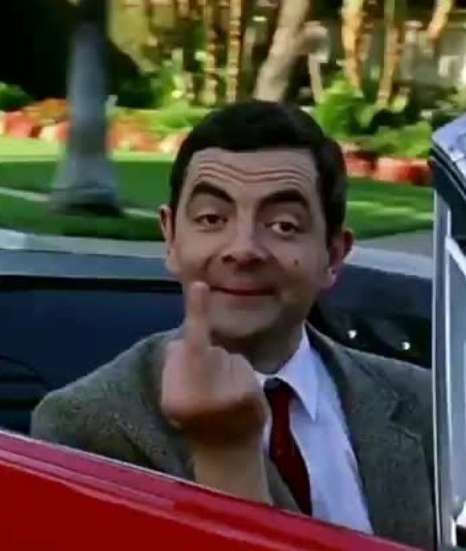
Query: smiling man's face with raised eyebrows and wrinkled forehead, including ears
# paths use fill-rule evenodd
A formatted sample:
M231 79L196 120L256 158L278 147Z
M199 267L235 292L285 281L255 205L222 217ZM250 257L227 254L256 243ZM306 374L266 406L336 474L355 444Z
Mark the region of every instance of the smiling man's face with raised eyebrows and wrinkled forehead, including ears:
M308 151L205 149L187 170L175 215L163 207L168 267L210 286L211 330L227 339L289 331L334 283L349 240L327 247ZM346 236L347 237L347 236Z

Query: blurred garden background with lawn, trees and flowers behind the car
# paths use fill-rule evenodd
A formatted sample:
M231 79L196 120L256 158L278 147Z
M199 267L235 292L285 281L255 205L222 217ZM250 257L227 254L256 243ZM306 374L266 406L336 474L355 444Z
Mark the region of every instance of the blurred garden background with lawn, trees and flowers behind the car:
M161 238L182 139L255 96L342 144L356 236L431 230L431 134L466 108L466 0L8 0L0 21L0 228Z

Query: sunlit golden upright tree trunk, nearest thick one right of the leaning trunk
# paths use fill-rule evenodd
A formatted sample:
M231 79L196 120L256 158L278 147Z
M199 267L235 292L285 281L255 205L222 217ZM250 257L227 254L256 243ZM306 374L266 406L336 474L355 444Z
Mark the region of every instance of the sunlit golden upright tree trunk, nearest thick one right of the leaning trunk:
M344 0L342 7L342 44L344 71L351 86L361 90L361 41L363 40L365 0Z

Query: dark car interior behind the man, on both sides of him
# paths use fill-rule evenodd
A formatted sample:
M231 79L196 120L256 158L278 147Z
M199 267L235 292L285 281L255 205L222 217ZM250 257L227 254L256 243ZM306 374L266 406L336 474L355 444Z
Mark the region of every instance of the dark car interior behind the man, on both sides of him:
M30 413L49 390L180 324L180 286L161 259L153 262L160 264L157 277L136 277L135 270L65 276L59 269L0 275L0 427L27 434ZM429 368L430 295L429 279L351 265L310 320L342 344Z

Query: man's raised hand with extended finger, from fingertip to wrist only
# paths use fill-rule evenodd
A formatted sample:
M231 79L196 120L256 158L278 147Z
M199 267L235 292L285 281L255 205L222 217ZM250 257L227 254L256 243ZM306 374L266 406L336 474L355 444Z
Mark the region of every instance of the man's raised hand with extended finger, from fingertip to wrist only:
M262 438L267 401L249 362L213 347L209 336L209 287L187 291L185 338L168 345L162 410L199 446L235 446Z

